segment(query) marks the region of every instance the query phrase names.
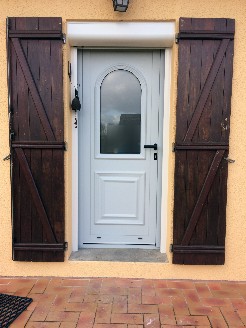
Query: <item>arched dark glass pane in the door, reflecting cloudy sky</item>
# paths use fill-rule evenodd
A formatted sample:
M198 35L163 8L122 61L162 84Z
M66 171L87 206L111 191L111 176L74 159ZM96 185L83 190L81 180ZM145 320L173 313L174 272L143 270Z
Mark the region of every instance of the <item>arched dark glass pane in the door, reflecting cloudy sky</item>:
M129 71L109 73L101 85L100 153L140 154L141 85Z

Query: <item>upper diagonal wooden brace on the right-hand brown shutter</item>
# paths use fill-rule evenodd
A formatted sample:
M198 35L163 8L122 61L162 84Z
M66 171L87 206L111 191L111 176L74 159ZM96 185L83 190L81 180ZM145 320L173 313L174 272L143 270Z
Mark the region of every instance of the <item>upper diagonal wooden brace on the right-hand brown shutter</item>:
M219 50L216 54L216 57L214 59L214 62L212 64L212 66L210 68L210 71L208 73L208 77L206 79L204 87L203 87L203 89L201 91L201 94L199 96L197 105L194 109L193 116L191 118L188 130L187 130L185 138L184 138L184 142L185 141L191 141L192 138L193 138L196 127L198 125L198 122L199 122L199 120L201 118L201 115L202 115L202 112L204 110L204 106L205 106L205 104L207 102L207 99L210 95L210 92L212 90L212 87L213 87L214 81L216 79L216 76L218 75L218 72L219 72L222 60L224 58L226 49L229 45L229 42L230 42L230 39L223 39L221 41Z

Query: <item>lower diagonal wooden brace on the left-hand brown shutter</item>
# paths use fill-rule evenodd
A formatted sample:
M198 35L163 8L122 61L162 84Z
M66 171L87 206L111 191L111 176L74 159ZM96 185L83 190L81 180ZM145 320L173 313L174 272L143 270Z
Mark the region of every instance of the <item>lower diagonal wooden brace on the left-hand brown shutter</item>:
M37 212L39 214L39 218L43 224L44 231L48 238L48 241L50 243L57 243L54 231L51 227L51 224L50 224L49 218L47 216L46 210L44 208L43 202L40 198L36 183L33 179L33 176L32 176L29 164L27 162L26 156L24 154L24 151L22 148L16 148L15 151L16 151L19 163L20 163L20 167L25 176L27 185L30 189L31 197L33 199L33 202L34 202Z

